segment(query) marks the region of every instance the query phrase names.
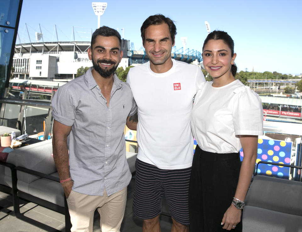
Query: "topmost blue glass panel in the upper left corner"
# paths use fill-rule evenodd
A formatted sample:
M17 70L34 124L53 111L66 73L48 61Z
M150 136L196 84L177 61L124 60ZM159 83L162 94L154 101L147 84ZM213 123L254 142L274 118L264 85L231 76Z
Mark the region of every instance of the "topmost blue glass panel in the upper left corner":
M0 25L15 27L19 0L1 1Z

